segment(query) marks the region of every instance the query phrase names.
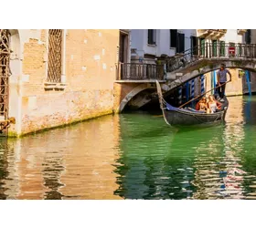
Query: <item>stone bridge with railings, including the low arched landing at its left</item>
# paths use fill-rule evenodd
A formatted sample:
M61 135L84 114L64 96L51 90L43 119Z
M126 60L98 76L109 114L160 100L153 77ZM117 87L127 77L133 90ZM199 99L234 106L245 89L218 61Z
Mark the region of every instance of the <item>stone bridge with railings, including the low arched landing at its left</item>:
M115 88L119 90L115 111L122 112L129 103L139 109L152 100L156 94L155 80L159 80L164 94L185 82L219 69L221 64L227 68L240 68L256 72L256 45L221 44L194 47L178 57L165 60L165 65L129 64L120 70ZM132 67L133 66L133 67Z

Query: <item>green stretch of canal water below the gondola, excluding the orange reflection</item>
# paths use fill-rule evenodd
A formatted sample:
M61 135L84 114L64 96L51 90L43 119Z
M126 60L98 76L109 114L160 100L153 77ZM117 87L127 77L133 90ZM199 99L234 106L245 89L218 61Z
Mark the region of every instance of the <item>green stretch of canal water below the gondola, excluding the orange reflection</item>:
M245 180L255 181L255 168L241 162L252 121L244 115L247 103L229 98L226 124L208 129L172 130L152 116L123 116L115 194L125 199L252 199L255 190Z

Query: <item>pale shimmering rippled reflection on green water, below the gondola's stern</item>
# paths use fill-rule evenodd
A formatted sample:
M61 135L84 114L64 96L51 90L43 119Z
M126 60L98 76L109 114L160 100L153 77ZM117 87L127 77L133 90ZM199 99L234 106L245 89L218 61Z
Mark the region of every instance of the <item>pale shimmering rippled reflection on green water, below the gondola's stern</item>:
M242 174L239 169L240 152L243 149L244 119L242 117L242 97L230 98L229 112L225 127L210 140L207 150L197 154L197 175L195 199L242 198ZM204 157L202 157L202 154ZM241 174L238 176L237 174Z

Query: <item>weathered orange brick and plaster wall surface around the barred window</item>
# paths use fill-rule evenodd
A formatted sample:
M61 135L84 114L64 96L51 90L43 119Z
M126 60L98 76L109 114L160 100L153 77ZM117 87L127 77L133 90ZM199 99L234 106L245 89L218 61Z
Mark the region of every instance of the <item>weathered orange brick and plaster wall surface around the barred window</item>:
M68 30L63 91L45 90L48 30L24 32L20 132L112 113L119 30ZM12 91L10 91L12 93Z

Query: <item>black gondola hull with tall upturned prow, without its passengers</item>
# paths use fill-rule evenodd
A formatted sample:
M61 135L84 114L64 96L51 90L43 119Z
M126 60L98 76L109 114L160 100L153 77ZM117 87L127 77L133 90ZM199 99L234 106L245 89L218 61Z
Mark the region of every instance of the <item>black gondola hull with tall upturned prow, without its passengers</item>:
M180 109L168 104L162 95L162 89L158 81L156 81L157 94L159 98L160 108L163 111L165 122L172 126L209 126L221 123L225 120L226 112L229 108L229 100L224 97L221 109L212 114L207 114L196 109Z

